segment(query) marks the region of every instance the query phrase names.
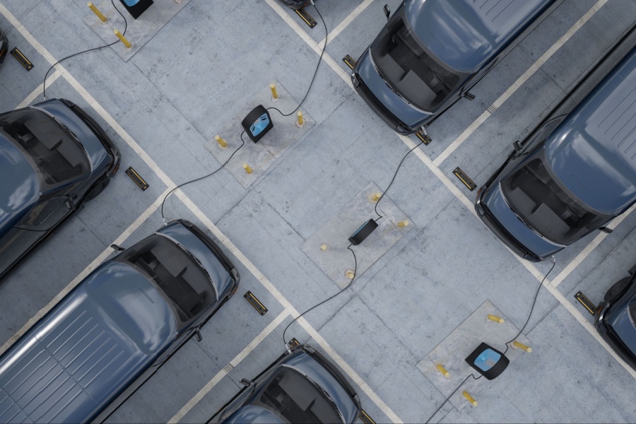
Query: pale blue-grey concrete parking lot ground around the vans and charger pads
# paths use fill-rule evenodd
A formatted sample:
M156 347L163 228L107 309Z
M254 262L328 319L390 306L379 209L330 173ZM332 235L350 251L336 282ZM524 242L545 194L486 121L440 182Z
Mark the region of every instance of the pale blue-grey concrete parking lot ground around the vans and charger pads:
M416 143L397 136L360 100L341 61L346 54L357 58L377 35L385 2L392 10L400 3L316 0L330 35L301 107L314 124L247 187L221 170L165 202L166 218L192 220L220 240L241 285L204 326L203 340L186 343L110 421L208 420L240 389L240 379L255 377L283 353L283 329L293 317L339 290L301 247L365 187L387 187ZM220 166L216 158L223 156L211 154L207 143L240 111L256 106L250 102L269 83L278 81L295 104L302 100L324 27L311 6L314 28L281 5L190 0L175 7L173 0L155 0L151 8L170 8L173 16L156 31L148 29L154 35L129 59L122 59L124 47L117 44L63 61L49 73L47 97L68 98L95 117L122 152L122 170L1 282L1 351L112 255L112 243L129 246L160 228L167 190ZM0 0L0 28L10 48L35 65L27 72L6 58L1 111L42 101L49 66L104 44L86 23L90 16L80 0ZM387 193L409 218L404 236L384 242L382 254L349 288L290 326L287 338L315 346L341 367L376 422L428 420L449 393L437 389L418 363L487 300L521 328L550 269L550 261L517 259L482 225L471 206L476 192L452 170L459 166L483 184L511 143L528 134L635 20L632 0L560 4L478 83L475 100L461 100L437 119L428 129L432 143L406 158ZM283 125L277 112L271 116ZM127 167L150 184L146 191L122 172ZM360 224L375 217L372 205L368 213L355 211L361 211ZM636 421L630 390L636 372L608 351L593 317L574 298L582 290L599 302L636 262L636 213L611 227L611 234L594 232L556 255L524 329L532 353L489 382L476 395L478 406L448 402L432 422ZM342 234L343 247L355 229ZM353 269L351 252L342 254ZM269 312L258 314L242 298L247 290ZM454 365L447 367L452 372Z

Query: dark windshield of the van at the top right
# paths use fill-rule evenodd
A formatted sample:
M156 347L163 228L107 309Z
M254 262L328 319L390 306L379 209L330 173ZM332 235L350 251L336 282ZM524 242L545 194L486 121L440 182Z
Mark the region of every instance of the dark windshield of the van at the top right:
M371 46L377 71L401 98L432 112L467 74L453 71L433 59L406 21L401 8Z

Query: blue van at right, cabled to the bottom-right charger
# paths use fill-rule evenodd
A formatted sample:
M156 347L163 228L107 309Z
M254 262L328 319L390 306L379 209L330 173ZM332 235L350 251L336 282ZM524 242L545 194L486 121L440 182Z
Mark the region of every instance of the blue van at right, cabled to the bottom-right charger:
M541 261L636 201L636 30L606 54L477 194L507 247Z

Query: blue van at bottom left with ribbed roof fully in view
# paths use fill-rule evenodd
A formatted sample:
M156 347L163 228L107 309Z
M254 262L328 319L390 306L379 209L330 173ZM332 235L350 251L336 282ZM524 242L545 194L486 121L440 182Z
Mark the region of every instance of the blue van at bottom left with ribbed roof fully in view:
M239 274L177 220L95 269L0 356L0 423L105 420L236 293Z

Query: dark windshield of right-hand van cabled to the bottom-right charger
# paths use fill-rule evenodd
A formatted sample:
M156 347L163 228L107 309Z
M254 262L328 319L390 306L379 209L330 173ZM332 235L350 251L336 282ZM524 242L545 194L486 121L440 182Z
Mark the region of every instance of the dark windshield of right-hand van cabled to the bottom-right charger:
M606 223L611 216L591 211L550 175L540 148L501 189L510 208L526 225L559 245L569 245Z

